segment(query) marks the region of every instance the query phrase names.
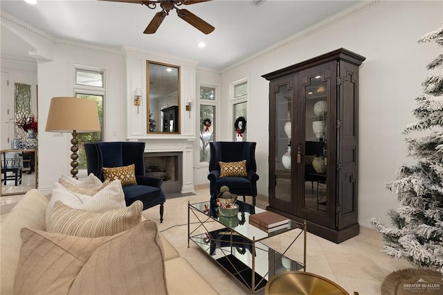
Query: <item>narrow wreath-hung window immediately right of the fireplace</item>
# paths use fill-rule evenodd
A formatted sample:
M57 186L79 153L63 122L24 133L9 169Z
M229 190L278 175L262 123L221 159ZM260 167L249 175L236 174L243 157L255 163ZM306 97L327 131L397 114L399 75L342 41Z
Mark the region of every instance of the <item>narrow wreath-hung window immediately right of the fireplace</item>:
M200 87L200 162L210 159L209 143L215 139L215 88Z

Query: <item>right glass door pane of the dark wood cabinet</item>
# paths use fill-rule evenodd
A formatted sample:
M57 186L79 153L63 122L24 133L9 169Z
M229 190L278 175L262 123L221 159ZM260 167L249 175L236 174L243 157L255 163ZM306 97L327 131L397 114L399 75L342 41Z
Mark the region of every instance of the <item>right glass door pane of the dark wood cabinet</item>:
M324 73L309 75L305 98L305 194L303 207L327 211L327 105L328 82Z

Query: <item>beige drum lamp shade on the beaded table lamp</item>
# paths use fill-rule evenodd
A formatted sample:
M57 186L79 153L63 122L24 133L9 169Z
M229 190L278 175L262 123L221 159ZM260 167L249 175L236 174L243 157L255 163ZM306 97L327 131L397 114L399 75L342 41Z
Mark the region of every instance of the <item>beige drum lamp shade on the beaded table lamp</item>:
M86 98L51 99L46 129L48 132L100 132L97 103Z

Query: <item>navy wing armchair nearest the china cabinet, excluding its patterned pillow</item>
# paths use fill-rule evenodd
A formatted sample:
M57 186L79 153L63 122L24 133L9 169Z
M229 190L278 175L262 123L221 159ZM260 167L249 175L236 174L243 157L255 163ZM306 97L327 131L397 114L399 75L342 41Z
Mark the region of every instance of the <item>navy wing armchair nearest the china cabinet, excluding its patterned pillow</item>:
M251 196L253 205L257 196L258 175L257 163L255 163L255 145L257 143L249 141L215 141L209 143L210 161L209 175L210 194L218 193L221 186L228 186L230 193ZM238 162L246 160L246 177L221 177L220 165L222 162Z

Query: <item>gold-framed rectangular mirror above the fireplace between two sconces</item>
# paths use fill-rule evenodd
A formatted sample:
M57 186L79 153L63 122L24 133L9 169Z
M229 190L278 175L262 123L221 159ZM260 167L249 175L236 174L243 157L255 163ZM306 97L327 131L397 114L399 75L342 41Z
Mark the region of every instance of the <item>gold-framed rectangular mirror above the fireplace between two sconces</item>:
M146 62L147 133L180 134L180 66Z

